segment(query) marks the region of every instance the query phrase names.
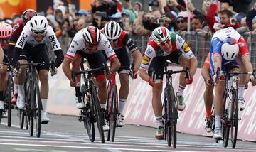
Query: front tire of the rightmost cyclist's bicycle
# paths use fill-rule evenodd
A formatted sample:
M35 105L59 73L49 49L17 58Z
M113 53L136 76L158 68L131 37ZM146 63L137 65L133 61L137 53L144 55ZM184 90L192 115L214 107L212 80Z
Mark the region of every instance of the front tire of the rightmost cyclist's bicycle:
M232 148L235 148L238 137L238 90L235 89L231 101L231 143Z

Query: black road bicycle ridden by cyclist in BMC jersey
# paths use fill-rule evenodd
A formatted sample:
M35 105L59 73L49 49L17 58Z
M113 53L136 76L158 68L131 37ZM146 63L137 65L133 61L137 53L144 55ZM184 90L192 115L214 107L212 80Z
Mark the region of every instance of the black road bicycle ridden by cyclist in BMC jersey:
M38 65L50 65L51 69L55 68L53 62L50 63L33 63L29 61L28 63L17 63L17 70L20 66L27 65L26 69L26 80L24 83L25 90L25 107L20 112L20 124L23 127L24 121L26 121L26 126L28 126L28 132L30 136L33 136L34 125L36 128L36 137L41 135L41 111L43 110L41 94L38 85L38 72L36 66ZM21 127L21 128L22 128Z

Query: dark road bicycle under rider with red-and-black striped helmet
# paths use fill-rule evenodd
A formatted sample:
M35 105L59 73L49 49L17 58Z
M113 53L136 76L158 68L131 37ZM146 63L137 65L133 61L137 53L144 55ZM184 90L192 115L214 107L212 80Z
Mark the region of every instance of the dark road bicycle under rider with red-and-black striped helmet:
M99 70L107 70L107 64L102 67L95 69L84 70L83 64L80 71L72 71L71 76L73 81L75 81L75 75L82 74L82 80L84 84L81 85L82 99L85 102L85 107L80 110L79 121L83 121L87 134L90 141L95 141L95 126L94 123L97 122L97 128L100 134L100 141L105 143L105 137L103 132L103 112L100 107L100 99L97 94L97 87L94 82L93 72Z

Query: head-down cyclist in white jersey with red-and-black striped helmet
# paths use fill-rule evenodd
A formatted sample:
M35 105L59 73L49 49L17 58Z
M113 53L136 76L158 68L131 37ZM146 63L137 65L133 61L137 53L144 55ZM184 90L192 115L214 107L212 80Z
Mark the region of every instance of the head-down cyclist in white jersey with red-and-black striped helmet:
M100 33L100 30L94 26L88 26L83 28L75 34L74 39L70 43L65 59L63 61L63 72L70 80L71 87L75 87L75 100L76 107L82 109L85 107L85 103L82 101L82 94L80 92L80 75L75 77L75 82L71 79L71 68L70 63L73 65L73 70L80 70L80 63L83 58L87 59L90 68L102 67L103 63L106 63L103 51L110 60L110 75L117 72L120 67L120 62L117 55L114 53L110 42L107 38ZM99 87L98 94L100 98L100 107L105 112L106 101L107 101L107 85L105 79L105 73L103 70L94 73ZM107 75L107 79L110 80L110 75ZM109 126L107 121L104 121L103 130L107 131Z

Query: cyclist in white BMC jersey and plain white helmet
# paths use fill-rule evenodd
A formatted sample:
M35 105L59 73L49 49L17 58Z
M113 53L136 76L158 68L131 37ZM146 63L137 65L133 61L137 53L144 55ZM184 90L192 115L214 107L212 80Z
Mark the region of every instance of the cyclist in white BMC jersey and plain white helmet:
M28 59L32 60L33 63L48 63L49 58L47 55L46 43L50 43L51 47L57 56L55 59L55 69L50 69L50 65L38 65L39 79L41 82L41 99L43 105L43 111L41 113L41 123L47 124L50 121L48 114L46 113L46 102L48 99L48 70L52 75L57 73L57 68L63 61L64 55L60 48L53 28L48 25L48 21L44 16L34 16L31 18L26 26L24 26L21 36L14 48L12 64L16 67L17 61L21 64L28 63ZM25 45L26 44L26 45ZM18 99L17 107L23 109L25 106L25 94L24 94L24 80L26 74L26 66L20 67L20 72L14 69L14 74L18 74Z

